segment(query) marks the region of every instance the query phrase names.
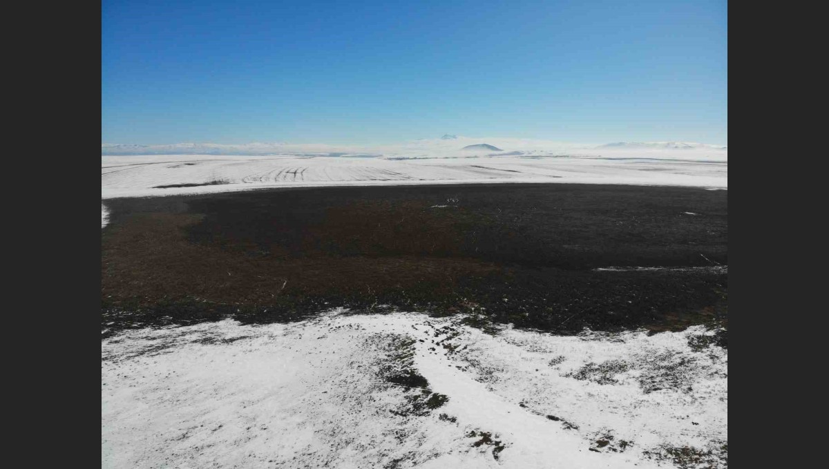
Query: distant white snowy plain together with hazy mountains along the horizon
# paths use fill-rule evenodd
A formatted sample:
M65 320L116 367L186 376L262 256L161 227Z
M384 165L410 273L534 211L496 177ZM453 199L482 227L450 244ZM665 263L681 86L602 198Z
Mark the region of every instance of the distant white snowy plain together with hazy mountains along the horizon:
M464 150L495 143L501 151ZM124 156L129 152L182 152ZM220 154L193 154L210 151ZM236 155L227 152L238 152ZM104 145L101 196L163 196L273 186L571 182L728 186L728 150L688 143L604 146L516 139L448 138L398 146L254 143L155 147ZM120 155L120 156L119 156ZM190 187L157 186L202 185Z

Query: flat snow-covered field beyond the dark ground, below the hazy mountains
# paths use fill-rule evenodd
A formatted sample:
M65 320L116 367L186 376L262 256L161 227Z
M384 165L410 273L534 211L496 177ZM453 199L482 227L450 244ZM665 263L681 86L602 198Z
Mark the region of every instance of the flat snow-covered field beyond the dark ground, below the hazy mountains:
M158 188L179 184L225 184ZM169 196L266 187L569 182L727 188L725 161L607 157L102 157L101 196Z

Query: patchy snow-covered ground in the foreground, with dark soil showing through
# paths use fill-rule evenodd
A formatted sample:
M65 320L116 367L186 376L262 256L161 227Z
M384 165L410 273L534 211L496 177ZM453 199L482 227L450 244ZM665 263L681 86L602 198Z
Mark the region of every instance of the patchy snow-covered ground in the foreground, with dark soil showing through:
M124 331L101 345L103 467L725 467L706 335L342 311Z

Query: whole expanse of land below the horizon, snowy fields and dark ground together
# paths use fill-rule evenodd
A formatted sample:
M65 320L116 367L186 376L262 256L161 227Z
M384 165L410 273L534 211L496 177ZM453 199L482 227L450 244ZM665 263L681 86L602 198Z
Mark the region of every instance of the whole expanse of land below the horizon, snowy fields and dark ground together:
M727 467L685 151L103 157L102 466Z

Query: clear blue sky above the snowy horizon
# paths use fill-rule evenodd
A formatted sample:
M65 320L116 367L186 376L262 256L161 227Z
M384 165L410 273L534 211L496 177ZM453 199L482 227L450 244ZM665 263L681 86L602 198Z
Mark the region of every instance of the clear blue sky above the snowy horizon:
M724 0L102 8L104 143L728 143Z

